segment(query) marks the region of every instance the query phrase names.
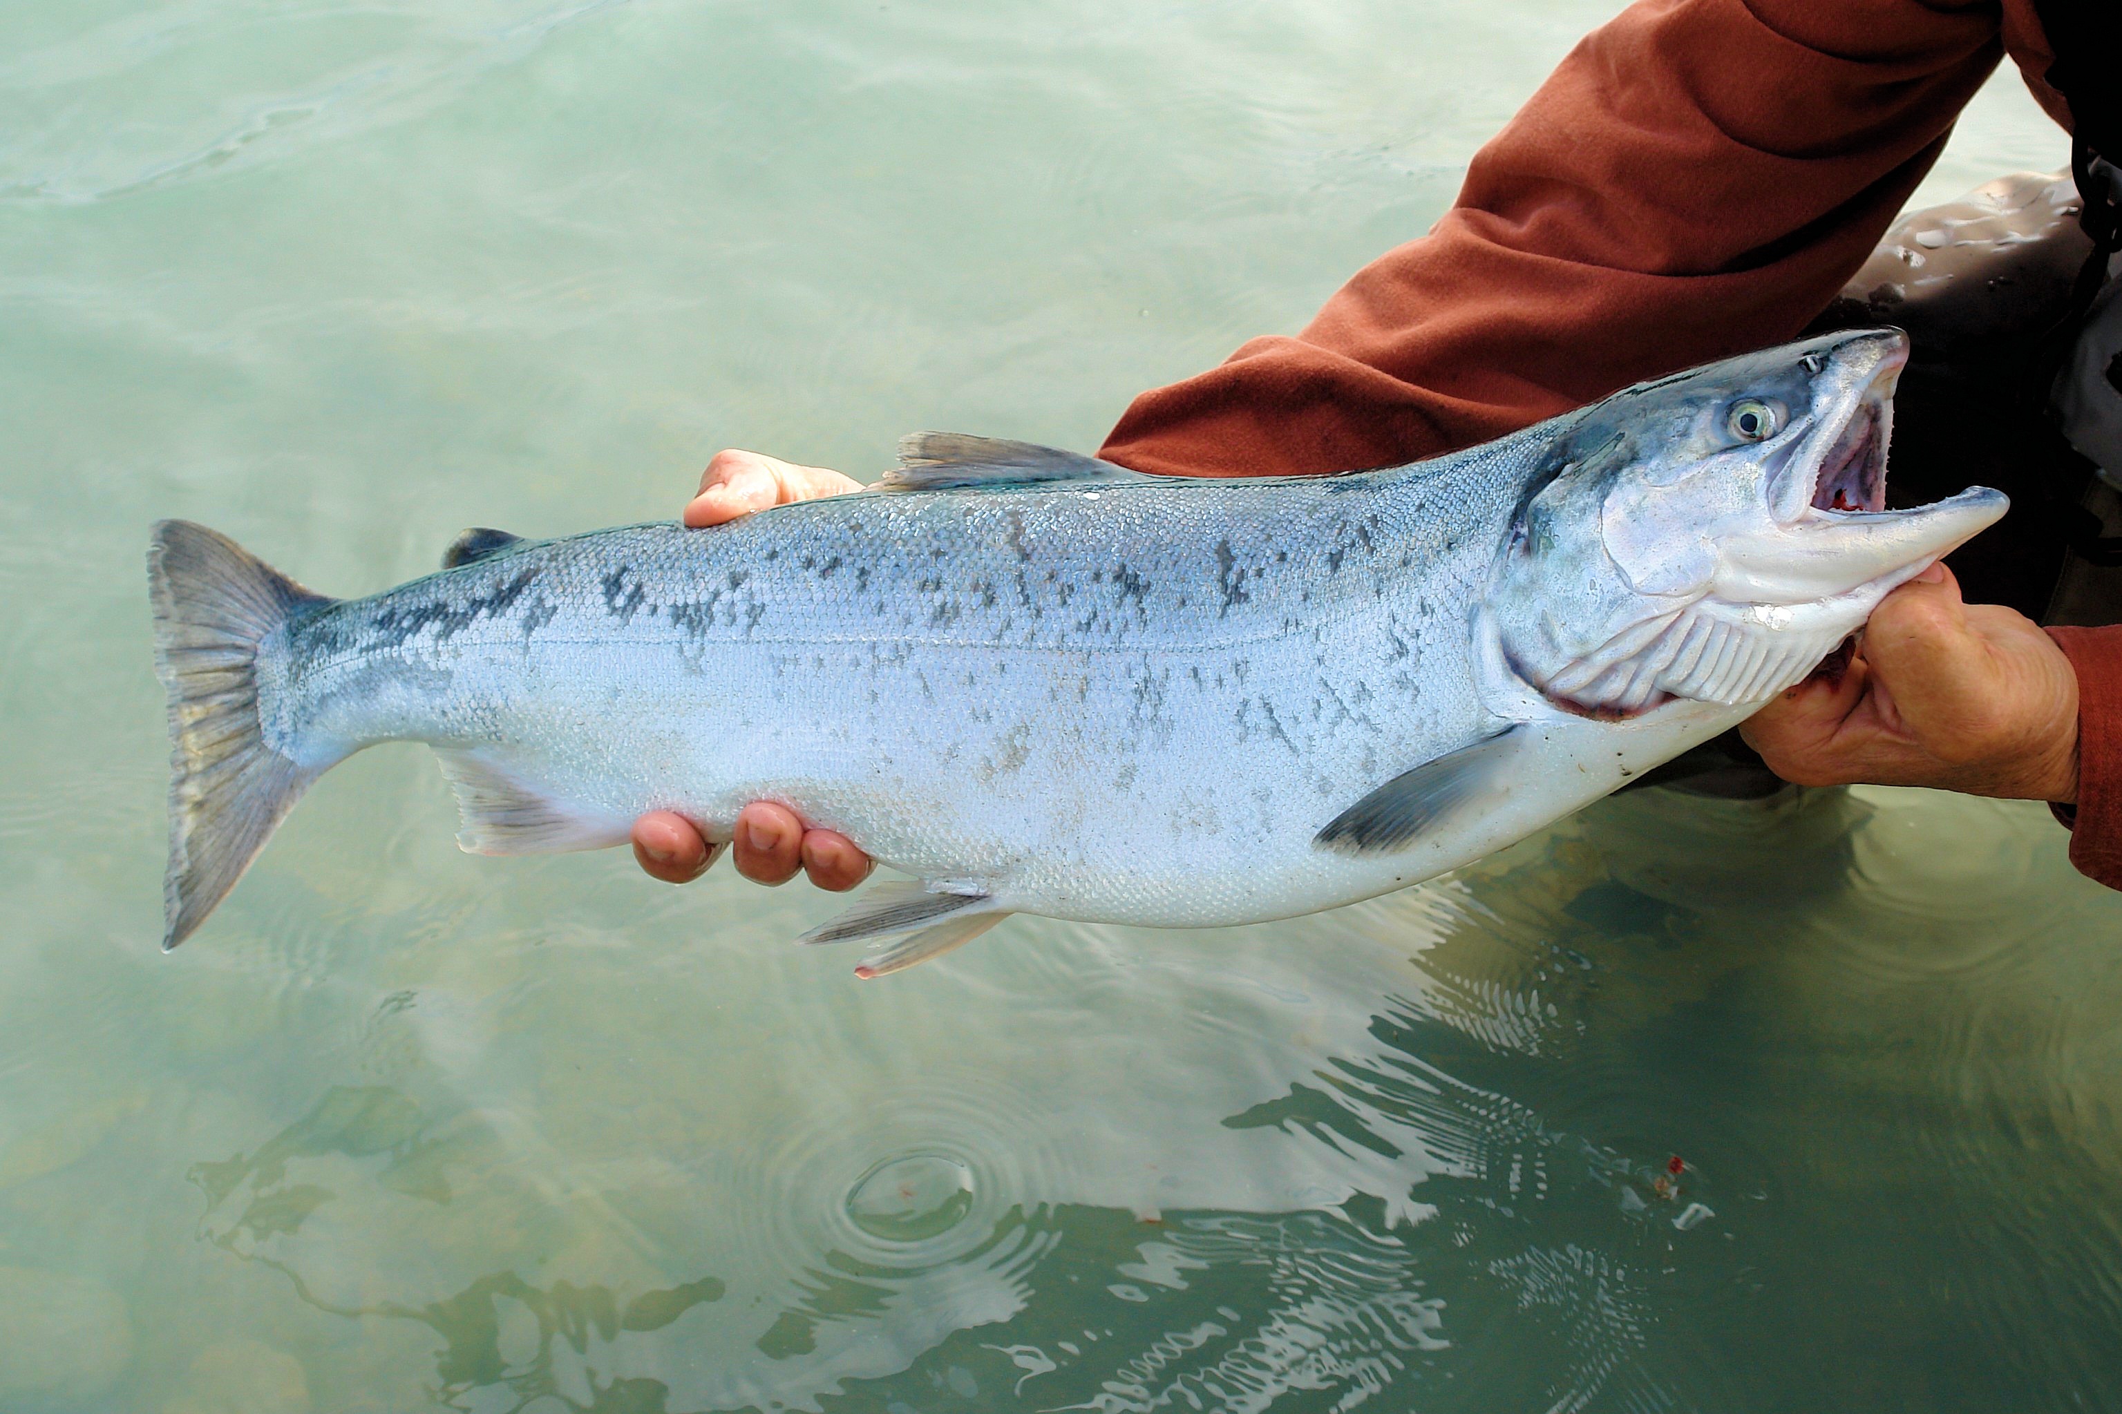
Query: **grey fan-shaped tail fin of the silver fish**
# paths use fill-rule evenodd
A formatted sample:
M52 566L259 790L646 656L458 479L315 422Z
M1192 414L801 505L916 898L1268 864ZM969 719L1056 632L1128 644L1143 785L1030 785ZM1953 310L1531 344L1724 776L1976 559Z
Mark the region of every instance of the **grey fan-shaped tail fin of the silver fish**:
M327 604L236 541L157 522L146 547L155 672L170 693L170 871L163 950L206 922L320 772L259 725L259 642L303 604Z

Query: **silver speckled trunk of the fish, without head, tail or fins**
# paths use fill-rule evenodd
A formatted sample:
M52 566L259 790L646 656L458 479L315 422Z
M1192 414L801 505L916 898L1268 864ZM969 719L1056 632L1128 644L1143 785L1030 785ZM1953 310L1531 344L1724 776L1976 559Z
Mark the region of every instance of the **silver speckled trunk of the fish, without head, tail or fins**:
M1025 912L1303 914L1415 878L1311 837L1479 733L1466 608L1528 449L522 545L291 623L265 740L316 765L399 738L467 753L556 801L569 844L645 810L728 837L777 799ZM511 839L473 820L467 846Z

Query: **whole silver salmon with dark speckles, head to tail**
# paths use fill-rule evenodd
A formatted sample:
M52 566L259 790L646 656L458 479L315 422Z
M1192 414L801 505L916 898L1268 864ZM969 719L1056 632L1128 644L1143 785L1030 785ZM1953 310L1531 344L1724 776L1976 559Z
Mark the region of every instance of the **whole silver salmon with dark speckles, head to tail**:
M187 585L248 555L166 524L170 943L308 780L386 740L435 746L477 852L618 844L645 810L728 837L747 801L783 801L919 880L817 935L902 939L874 971L1008 912L1237 924L1430 878L1744 719L1995 519L1995 492L1812 507L1838 475L1878 498L1897 348L1795 346L1339 477L910 439L866 494L494 536L361 600L257 566L278 583L206 628ZM1749 407L1785 426L1704 443L1757 384ZM1878 466L1831 466L1863 418L1876 445L1848 456ZM1785 555L1797 522L1842 541ZM248 721L240 759L214 757Z

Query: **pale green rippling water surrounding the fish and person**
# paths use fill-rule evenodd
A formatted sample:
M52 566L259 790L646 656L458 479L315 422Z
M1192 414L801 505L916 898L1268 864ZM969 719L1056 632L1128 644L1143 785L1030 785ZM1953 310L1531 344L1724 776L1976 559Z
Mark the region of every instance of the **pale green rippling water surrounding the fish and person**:
M1608 11L0 8L0 1410L2122 1408L2122 897L2033 806L857 984L384 748L157 952L149 519L356 594L721 445L1095 445ZM2063 159L1999 83L1925 197Z

